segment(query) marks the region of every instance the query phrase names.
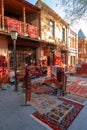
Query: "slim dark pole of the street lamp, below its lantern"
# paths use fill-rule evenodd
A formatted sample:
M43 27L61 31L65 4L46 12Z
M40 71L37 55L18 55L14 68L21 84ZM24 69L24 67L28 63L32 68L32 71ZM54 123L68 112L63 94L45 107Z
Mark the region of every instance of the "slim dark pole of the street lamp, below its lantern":
M15 91L18 91L17 87L17 62L16 62L16 40L14 41L14 72L15 72Z

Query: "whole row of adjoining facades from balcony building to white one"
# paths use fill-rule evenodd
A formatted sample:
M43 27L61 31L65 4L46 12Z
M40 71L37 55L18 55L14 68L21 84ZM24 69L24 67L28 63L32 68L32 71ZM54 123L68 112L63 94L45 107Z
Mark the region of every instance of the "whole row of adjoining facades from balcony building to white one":
M77 61L77 35L69 24L41 0L0 1L0 55L13 67L11 30L18 32L17 66L45 64L74 65ZM70 52L70 53L69 53Z

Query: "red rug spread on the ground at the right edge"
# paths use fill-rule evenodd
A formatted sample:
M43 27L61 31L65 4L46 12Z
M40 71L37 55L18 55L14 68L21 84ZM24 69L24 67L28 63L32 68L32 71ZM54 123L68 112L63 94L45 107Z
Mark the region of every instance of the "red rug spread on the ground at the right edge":
M73 82L72 84L67 85L66 91L68 93L87 98L87 81L79 80L77 82Z

